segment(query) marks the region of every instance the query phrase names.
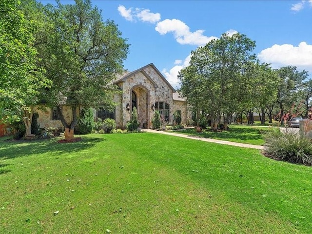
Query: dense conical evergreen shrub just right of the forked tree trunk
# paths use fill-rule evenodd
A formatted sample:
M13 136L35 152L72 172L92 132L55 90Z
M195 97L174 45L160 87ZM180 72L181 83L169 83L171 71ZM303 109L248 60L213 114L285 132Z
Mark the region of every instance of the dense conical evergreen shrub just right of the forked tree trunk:
M80 112L78 124L75 127L77 134L89 134L94 128L93 111L91 108L83 108Z

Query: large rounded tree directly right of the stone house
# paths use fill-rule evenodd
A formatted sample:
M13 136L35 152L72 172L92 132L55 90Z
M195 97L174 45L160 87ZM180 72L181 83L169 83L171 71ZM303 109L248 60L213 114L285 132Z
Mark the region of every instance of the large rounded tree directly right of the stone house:
M246 35L223 34L192 51L190 66L181 70L178 78L182 95L191 105L201 105L210 114L213 129L222 114L231 117L247 100L246 74L256 60L254 47L255 42Z

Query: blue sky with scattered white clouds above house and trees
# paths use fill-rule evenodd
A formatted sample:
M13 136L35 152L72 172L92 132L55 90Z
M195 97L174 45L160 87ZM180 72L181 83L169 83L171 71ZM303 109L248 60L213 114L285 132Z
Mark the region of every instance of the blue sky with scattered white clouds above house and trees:
M254 53L273 68L293 65L312 73L312 0L93 0L92 4L102 10L103 20L118 24L131 44L124 68L133 71L153 62L175 88L177 73L188 65L191 51L226 32L255 40Z

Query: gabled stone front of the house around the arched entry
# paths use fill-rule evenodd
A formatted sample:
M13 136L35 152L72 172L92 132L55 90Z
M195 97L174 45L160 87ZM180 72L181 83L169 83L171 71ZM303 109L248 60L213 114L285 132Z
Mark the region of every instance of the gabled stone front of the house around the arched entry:
M127 121L131 117L133 105L136 106L138 115L145 120L145 127L151 127L154 117L152 105L155 102L164 102L169 105L168 122L173 122L173 114L176 110L181 110L182 123L187 122L191 116L187 103L183 98L179 98L176 90L161 75L153 63L148 64L134 72L125 74L116 81L122 90L120 96L121 108L116 108L116 122L121 128L125 128ZM136 103L133 104L133 95ZM130 110L126 110L127 104Z

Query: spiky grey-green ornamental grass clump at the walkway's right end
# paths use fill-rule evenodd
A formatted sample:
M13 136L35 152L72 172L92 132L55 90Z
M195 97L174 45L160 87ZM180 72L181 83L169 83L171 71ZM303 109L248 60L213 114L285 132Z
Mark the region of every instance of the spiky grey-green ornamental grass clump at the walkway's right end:
M312 165L312 142L286 130L272 129L264 135L264 155L275 160Z

